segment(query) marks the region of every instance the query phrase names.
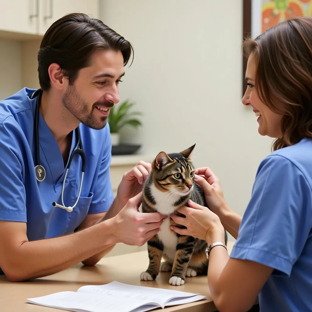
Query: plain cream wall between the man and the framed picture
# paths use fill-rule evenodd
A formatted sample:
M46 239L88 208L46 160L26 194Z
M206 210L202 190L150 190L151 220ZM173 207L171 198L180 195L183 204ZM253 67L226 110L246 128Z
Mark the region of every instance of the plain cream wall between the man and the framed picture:
M214 170L243 214L271 139L241 104L242 1L100 0L100 18L134 46L120 95L137 103L144 127L123 141L155 156L196 142L195 165Z

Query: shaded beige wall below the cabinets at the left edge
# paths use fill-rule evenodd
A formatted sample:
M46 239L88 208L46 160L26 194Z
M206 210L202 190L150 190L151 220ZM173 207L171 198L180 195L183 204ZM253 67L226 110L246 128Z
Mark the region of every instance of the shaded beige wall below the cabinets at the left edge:
M0 40L0 99L14 94L22 87L22 44Z

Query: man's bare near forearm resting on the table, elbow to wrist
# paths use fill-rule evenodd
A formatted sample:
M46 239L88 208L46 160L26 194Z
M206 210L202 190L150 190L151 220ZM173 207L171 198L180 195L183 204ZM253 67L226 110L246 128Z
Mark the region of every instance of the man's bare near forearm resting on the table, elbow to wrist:
M105 221L70 235L25 241L2 269L12 281L54 274L114 245L112 233L113 225Z

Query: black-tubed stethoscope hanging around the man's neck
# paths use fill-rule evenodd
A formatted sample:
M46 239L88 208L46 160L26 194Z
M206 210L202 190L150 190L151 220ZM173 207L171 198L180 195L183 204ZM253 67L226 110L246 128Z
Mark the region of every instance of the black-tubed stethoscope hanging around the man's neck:
M46 177L46 169L40 164L40 157L39 157L38 125L39 125L39 108L40 108L41 96L42 96L42 90L41 89L36 90L29 97L30 97L30 99L34 99L36 96L37 96L37 100L36 100L36 110L35 110L35 118L34 118L34 135L35 135L35 149L36 149L35 173L36 173L37 180L39 182L42 182L45 179L45 177ZM65 173L65 177L64 177L64 181L63 181L63 186L62 186L62 196L61 196L61 198L62 198L62 205L60 205L60 204L58 204L56 202L52 202L53 206L60 207L62 209L67 210L68 212L72 212L73 208L77 205L77 202L78 202L78 200L80 198L80 194L81 194L83 176L85 174L86 158L85 158L85 152L83 151L83 147L82 147L79 127L77 127L75 131L76 131L76 146L75 146L74 150L72 151L72 153L71 153L71 155L69 157L68 165L67 165L67 168L66 168L66 173ZM79 188L78 197L77 197L77 200L76 200L74 206L66 207L65 204L64 204L64 199L63 199L63 197L64 197L65 181L66 181L67 173L69 171L69 167L71 166L71 161L72 161L73 157L76 154L80 154L81 159L82 159L80 188Z

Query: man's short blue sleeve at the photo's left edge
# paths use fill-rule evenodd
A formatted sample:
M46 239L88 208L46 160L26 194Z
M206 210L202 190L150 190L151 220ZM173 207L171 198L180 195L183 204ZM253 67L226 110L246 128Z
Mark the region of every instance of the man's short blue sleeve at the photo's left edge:
M22 139L18 137L18 125L9 116L0 124L0 220L27 222L24 165L17 143Z

